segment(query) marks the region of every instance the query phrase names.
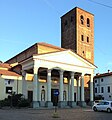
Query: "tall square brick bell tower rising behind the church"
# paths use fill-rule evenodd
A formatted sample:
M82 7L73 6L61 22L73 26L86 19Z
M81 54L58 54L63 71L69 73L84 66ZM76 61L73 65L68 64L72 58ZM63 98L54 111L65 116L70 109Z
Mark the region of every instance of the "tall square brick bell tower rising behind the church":
M61 17L61 47L94 64L94 15L74 8Z

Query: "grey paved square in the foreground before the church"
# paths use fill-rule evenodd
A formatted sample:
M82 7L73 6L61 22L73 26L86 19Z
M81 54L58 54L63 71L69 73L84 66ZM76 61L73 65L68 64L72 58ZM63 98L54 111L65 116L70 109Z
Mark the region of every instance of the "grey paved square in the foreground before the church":
M0 120L112 120L112 113L94 112L90 108L58 109L0 109Z

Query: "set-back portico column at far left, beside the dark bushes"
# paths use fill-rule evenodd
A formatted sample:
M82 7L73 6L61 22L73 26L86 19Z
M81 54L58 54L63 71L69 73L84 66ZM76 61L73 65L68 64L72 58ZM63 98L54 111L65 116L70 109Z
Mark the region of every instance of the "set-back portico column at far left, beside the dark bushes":
M27 98L27 81L26 81L26 71L22 71L22 94Z

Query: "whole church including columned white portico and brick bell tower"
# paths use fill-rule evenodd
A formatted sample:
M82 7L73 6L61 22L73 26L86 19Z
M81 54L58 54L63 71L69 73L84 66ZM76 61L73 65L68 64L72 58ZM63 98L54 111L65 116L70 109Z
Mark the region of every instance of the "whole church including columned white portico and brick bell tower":
M6 61L22 76L22 94L33 108L86 106L93 102L94 15L74 8L61 17L61 47L40 42Z

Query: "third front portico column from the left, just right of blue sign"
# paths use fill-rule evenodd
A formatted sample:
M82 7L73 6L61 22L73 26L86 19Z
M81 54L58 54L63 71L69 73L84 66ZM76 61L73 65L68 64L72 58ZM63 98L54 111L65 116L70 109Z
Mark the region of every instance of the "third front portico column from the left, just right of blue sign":
M59 85L59 107L64 107L64 102L63 102L63 72L64 71L60 71L60 85Z

